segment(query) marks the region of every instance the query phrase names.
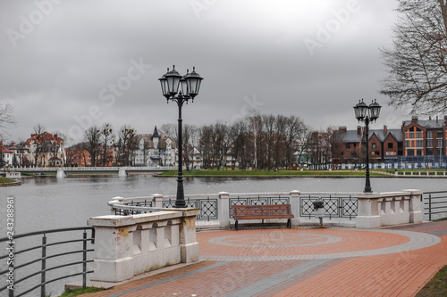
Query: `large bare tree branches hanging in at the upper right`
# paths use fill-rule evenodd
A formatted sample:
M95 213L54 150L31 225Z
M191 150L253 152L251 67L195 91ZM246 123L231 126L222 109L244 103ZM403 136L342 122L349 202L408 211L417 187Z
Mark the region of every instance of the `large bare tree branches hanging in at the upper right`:
M381 94L396 108L413 113L447 111L447 3L399 0L401 17L393 28L392 49L382 49L388 76Z

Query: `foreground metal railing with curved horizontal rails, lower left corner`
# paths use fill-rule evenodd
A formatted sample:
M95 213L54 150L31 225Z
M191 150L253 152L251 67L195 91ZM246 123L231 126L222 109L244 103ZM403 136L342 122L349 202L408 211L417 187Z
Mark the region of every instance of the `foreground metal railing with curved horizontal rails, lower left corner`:
M55 234L55 233L66 233L66 232L72 232L72 231L80 231L83 230L84 232L82 233L82 238L77 238L77 239L69 239L69 240L63 240L63 241L59 241L59 242L52 242L49 243L47 241L47 236L48 234ZM88 236L87 232L88 230L90 230L90 236ZM41 244L36 243L36 237L32 237L32 236L38 236L38 235L42 235L41 238ZM31 246L31 247L26 247L23 248L19 251L14 251L14 247L16 244L16 241L18 239L23 239L23 238L28 238L29 240L33 241L33 243L30 244L26 244L28 246L30 245L34 245L34 244L38 244L35 246ZM21 242L21 241L19 241ZM93 262L93 260L88 260L88 252L93 252L94 250L88 247L88 242L90 242L91 244L95 243L95 229L93 227L71 227L71 228L62 228L62 229L52 229L52 230L46 230L46 231L38 231L38 232L30 232L27 234L23 234L23 235L14 235L13 239L8 238L8 237L4 237L4 238L0 238L0 243L3 245L4 243L6 243L8 245L8 247L6 249L2 249L2 251L6 251L6 254L0 253L0 260L7 262L8 263L8 268L6 268L3 271L0 271L0 275L5 276L6 274L11 274L12 272L12 278L9 278L9 280L12 282L10 282L8 285L5 285L3 287L0 287L0 293L2 296L5 296L4 292L7 290L9 291L9 297L19 297L19 296L23 296L27 293L30 293L36 289L38 289L38 287L40 287L40 296L43 297L46 295L46 285L53 283L55 281L61 280L63 278L67 278L67 277L71 277L71 276L82 276L82 287L85 288L86 284L87 284L87 274L92 273L93 270L88 270L87 268L87 263L89 262ZM70 243L82 243L82 249L81 250L74 250L74 251L69 251L69 252L59 252L57 251L57 249L55 248L55 246L57 245L63 245L64 251L67 250L67 245L66 244L70 244ZM70 245L72 247L72 245ZM25 253L27 252L31 252L31 251L38 251L40 250L41 252L41 257L37 258L37 259L32 259L25 262L25 263L20 263L19 265L14 265L15 263L18 263L18 260L20 260L21 257L17 257L17 255L21 255L23 256ZM82 260L75 260L72 262L68 262L68 263L64 263L63 256L68 256L68 255L75 255L75 254L81 254L82 255ZM32 257L32 256L30 256ZM26 257L24 257L26 258ZM57 258L57 261L52 261L55 258ZM7 259L7 261L6 261ZM61 264L61 262L63 264ZM40 270L38 271L32 271L32 264L38 264L40 263ZM57 264L56 266L52 266L49 267L49 265L54 265ZM52 270L56 270L56 269L60 269L60 268L65 268L65 267L69 267L69 266L73 266L73 265L80 265L81 266L81 272L75 272L75 273L70 273L67 275L62 275L62 276L58 276L55 277L53 279L47 279L46 273L48 271L52 271ZM36 266L36 265L34 265ZM17 272L21 271L21 278L20 279L15 279L14 276L17 276ZM63 272L61 270L58 270L58 273L63 274ZM26 275L25 275L26 274ZM40 282L38 283L38 285L34 285L35 282L32 282L34 284L30 285L32 287L28 287L29 285L27 284L27 290L25 292L21 292L21 293L17 293L17 290L14 290L17 288L16 285L21 284L23 281L30 279L33 276L38 276L40 275ZM11 286L13 285L13 287ZM12 290L13 288L13 290Z

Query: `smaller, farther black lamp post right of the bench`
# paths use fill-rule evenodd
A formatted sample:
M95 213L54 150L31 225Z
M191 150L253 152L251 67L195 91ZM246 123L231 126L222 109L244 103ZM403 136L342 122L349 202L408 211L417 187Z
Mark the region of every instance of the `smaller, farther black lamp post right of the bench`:
M370 122L375 121L379 118L380 109L379 103L375 100L373 103L369 104L369 106L362 101L358 101L358 104L354 106L354 111L356 113L356 118L358 121L365 122L367 127L366 136L367 136L367 180L365 182L365 190L364 193L373 193L371 189L371 182L369 181L369 128L368 125Z

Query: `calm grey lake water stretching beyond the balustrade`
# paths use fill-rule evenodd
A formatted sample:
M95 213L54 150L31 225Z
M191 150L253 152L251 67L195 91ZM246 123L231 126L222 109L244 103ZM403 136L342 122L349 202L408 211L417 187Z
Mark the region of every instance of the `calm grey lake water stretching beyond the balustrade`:
M423 191L447 190L444 178L372 178L375 192L412 188ZM90 217L108 214L107 202L115 196L136 197L150 194L175 194L176 178L136 177L66 177L26 178L21 186L0 188L5 198L15 197L15 233L59 227L85 226ZM364 178L317 177L188 177L185 194L250 192L362 192ZM5 218L5 199L0 201ZM5 224L1 224L3 231ZM4 232L0 237L4 236Z

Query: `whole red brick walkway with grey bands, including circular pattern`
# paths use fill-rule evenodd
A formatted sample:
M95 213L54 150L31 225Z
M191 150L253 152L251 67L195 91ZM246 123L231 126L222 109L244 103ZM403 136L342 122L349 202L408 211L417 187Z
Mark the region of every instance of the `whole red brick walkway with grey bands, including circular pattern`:
M447 265L447 221L210 231L198 243L199 262L85 296L407 297Z

